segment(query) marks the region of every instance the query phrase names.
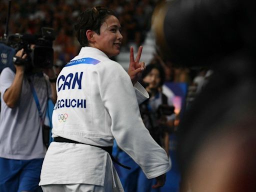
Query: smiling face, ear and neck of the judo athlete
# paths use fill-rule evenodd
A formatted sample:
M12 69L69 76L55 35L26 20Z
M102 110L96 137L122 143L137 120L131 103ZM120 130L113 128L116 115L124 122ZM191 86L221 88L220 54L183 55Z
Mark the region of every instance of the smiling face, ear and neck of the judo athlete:
M98 48L111 57L120 53L121 41L119 20L114 15L109 15L101 24L99 34L94 32L93 41L89 42L89 46Z

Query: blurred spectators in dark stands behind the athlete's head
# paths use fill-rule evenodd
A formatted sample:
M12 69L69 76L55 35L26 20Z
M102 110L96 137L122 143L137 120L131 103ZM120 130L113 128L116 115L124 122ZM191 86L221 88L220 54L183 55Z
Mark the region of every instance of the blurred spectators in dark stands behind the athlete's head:
M62 66L79 50L73 24L79 13L95 4L107 5L117 13L121 27L122 47L130 41L140 45L150 29L151 14L157 0L18 0L11 1L8 34L40 33L41 27L52 27L54 65ZM0 0L0 36L6 27L8 0Z

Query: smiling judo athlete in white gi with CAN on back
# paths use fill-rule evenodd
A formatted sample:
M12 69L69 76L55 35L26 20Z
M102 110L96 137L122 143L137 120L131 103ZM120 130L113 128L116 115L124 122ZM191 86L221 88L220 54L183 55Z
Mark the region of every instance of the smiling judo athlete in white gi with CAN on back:
M142 46L135 59L130 48L127 74L109 58L120 53L119 20L100 5L79 15L75 31L81 49L57 78L54 141L46 152L39 184L44 192L123 191L112 162L115 139L148 178L156 178L154 187L162 186L170 168L168 157L145 128L136 99L137 91L146 93L136 82L144 67L139 62Z

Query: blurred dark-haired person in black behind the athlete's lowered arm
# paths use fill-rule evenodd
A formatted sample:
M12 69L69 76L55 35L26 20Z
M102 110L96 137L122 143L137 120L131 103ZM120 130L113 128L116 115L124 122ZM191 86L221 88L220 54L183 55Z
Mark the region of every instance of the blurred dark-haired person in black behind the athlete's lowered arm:
M148 64L141 78L149 93L149 99L139 105L141 117L151 136L168 154L168 135L174 126L175 114L174 107L169 105L167 96L161 92L164 70L156 63Z

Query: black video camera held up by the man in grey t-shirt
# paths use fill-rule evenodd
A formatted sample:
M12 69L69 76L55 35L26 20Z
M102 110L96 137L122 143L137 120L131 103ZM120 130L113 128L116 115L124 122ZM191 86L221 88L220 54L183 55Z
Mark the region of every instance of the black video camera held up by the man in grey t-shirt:
M17 65L25 65L26 69L51 68L53 65L52 41L55 39L54 30L49 27L42 27L41 34L10 34L3 42L6 46L14 49L15 52L24 49L27 54L25 59L13 57ZM4 48L2 48L4 52Z

